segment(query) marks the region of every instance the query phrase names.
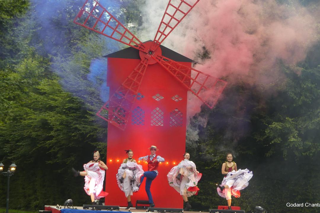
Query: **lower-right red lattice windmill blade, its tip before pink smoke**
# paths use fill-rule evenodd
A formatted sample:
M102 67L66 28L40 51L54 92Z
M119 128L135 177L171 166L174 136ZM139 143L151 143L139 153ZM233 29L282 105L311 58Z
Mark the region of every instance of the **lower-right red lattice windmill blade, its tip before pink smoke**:
M154 59L211 109L227 86L227 82L224 80L212 77L164 56L156 56Z

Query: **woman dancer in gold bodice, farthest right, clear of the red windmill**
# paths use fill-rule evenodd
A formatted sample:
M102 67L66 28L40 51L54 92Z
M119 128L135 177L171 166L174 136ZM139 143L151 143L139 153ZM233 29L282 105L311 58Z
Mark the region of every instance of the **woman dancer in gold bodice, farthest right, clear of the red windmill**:
M217 192L221 197L226 198L228 209L231 209L231 195L240 197L240 190L249 185L249 180L252 178L252 171L248 169L237 170L237 165L232 161L232 153L227 154L227 161L222 164L221 173L226 174L220 186L217 187Z

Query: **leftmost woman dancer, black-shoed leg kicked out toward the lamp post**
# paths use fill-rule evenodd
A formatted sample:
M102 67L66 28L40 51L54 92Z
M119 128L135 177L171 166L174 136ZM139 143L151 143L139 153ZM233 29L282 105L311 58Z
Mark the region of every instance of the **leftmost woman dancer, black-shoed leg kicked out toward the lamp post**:
M84 171L79 172L72 168L75 177L84 176L84 191L90 195L92 205L96 205L95 200L108 195L103 191L103 180L105 177L105 170L108 167L100 160L99 151L94 151L93 160L83 165Z

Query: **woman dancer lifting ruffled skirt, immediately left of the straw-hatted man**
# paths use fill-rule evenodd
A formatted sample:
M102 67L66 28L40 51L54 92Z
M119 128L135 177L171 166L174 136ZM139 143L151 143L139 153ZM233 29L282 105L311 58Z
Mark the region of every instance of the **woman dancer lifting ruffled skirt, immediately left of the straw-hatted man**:
M125 158L120 165L118 173L116 174L119 188L124 192L127 198L128 206L125 209L132 207L131 196L133 192L139 190L140 177L144 171L142 165L137 164L136 160L133 159L133 151L125 150L128 154L128 158Z

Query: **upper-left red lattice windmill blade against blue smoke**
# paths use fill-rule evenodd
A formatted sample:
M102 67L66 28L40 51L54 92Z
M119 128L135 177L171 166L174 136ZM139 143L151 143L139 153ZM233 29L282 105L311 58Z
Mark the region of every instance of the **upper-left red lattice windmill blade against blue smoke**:
M130 47L146 52L142 42L97 0L86 0L73 22Z

